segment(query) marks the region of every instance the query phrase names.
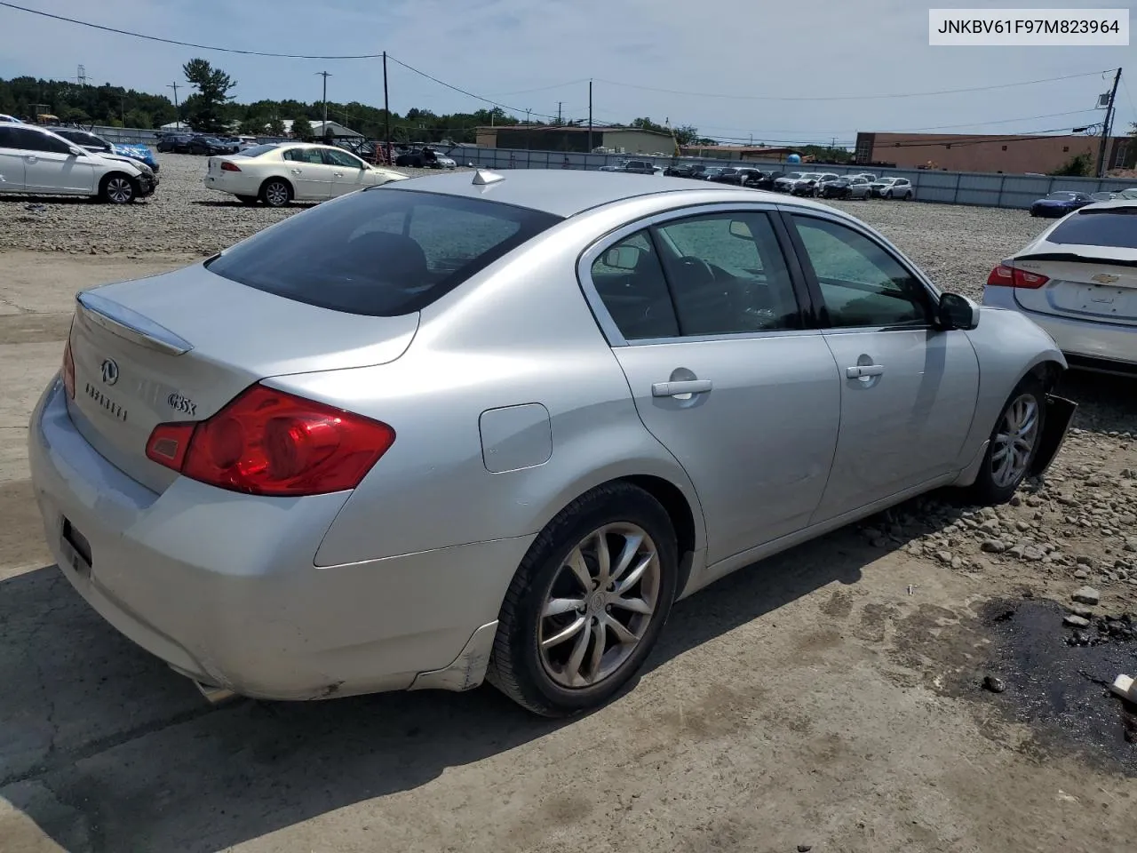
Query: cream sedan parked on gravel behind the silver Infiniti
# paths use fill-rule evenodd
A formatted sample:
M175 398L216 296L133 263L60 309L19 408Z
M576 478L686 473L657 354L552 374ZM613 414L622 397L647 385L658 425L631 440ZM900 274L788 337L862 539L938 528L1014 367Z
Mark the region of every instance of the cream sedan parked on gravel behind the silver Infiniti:
M326 201L366 187L406 177L379 168L342 148L306 142L272 142L224 157L210 157L206 189L236 196L247 205L264 201Z

